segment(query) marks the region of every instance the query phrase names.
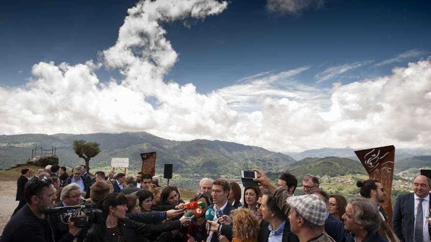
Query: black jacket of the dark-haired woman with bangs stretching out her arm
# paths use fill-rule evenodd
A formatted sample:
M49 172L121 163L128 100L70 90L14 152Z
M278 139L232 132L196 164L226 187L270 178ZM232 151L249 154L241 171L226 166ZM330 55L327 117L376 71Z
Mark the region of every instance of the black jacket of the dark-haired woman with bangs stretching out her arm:
M147 224L136 222L126 217L125 219L118 220L118 223L120 225L124 241L126 242L146 241L145 237L149 236L151 233L162 233L165 231L181 229L180 221ZM158 241L165 240L166 238L158 239ZM90 231L88 231L85 242L118 242L118 239L106 228L105 223L99 223L93 224Z

